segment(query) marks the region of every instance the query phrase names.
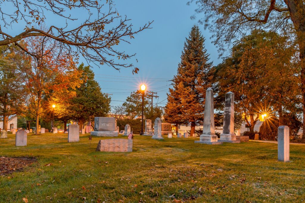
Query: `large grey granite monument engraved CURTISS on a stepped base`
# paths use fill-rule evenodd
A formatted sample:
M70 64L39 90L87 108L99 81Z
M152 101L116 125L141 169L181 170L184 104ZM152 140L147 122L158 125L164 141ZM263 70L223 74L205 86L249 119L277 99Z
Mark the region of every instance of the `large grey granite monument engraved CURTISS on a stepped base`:
M94 131L90 132L97 137L117 137L119 132L115 129L114 117L95 117Z

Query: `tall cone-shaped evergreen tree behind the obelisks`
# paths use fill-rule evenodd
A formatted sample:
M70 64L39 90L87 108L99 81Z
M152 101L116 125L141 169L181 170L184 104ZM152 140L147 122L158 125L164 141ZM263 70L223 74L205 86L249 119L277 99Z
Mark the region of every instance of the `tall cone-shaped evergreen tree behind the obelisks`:
M165 107L165 119L175 124L191 125L191 135L195 133L196 124L202 124L205 92L213 80L212 62L209 62L204 41L199 27L194 25L185 40Z

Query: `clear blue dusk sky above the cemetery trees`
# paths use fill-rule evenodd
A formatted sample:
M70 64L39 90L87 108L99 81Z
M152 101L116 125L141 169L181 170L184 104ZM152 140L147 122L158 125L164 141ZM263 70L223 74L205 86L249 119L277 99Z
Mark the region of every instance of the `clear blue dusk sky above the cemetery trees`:
M99 82L102 91L113 94L111 105L122 104L132 91L140 88L142 83L147 85L147 90L157 92L159 98L154 100L154 103L158 102L158 106L165 105L168 85L171 83L168 80L172 79L177 72L185 37L188 36L191 27L197 24L197 20L190 19L190 16L195 13L196 5L186 5L187 2L188 0L114 0L119 14L132 19L134 29L149 21L154 22L152 29L135 35L135 39L130 41L131 44L122 43L117 46L117 49L124 50L128 54L136 53L136 57L129 62L140 69L138 74L132 75L131 68L121 69L119 72L108 66L98 68L94 64L89 64L95 72L95 79ZM79 21L69 23L69 27L77 26L85 18L79 11L72 10L72 12ZM197 14L197 17L201 17L200 14ZM63 23L62 18L46 14L46 27L60 26ZM211 33L204 30L203 25L199 27L206 38L205 45L210 54L210 60L217 65L221 59L218 59L217 48L211 43ZM12 30L8 29L8 33L20 33L23 28L14 24ZM88 65L82 59L80 62Z

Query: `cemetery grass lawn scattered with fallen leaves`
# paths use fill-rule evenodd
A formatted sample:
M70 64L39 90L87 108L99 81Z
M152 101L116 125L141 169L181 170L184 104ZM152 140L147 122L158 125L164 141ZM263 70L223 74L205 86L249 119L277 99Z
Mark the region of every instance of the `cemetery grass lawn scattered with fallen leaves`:
M133 152L95 152L100 139L33 135L0 140L0 157L35 157L23 171L0 177L0 202L301 202L305 145L290 145L289 163L277 145L195 144L199 138L135 136ZM119 136L119 138L122 138ZM126 137L124 137L126 138Z

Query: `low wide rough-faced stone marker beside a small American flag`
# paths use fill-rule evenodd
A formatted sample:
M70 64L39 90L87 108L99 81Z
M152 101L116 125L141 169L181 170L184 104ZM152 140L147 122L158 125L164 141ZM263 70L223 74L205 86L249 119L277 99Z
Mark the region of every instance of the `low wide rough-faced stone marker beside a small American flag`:
M100 140L95 151L98 151L98 152L132 152L132 140L130 140L130 139Z

